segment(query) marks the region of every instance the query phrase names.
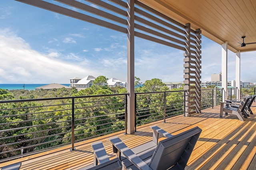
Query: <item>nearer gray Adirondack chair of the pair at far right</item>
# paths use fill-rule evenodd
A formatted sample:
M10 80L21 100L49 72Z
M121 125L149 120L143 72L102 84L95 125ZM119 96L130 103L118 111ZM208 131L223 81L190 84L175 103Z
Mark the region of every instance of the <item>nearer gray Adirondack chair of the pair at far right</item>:
M223 111L226 112L226 114L231 113L234 114L238 117L240 121L244 121L243 114L244 114L244 109L250 100L250 97L244 98L244 100L240 103L238 108L232 107L232 103L227 103L227 102L220 102L220 117L223 115ZM226 106L224 106L226 104Z

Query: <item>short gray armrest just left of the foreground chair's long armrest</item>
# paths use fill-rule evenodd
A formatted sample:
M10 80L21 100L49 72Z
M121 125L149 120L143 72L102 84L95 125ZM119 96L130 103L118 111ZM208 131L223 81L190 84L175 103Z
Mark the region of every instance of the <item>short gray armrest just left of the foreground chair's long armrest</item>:
M92 143L92 149L94 166L98 165L98 163L103 164L104 162L108 162L110 160L101 141Z

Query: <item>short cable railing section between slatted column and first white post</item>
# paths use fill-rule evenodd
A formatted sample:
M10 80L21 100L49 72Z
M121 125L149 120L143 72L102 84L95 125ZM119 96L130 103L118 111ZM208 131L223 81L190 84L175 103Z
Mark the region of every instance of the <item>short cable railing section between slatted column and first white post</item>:
M222 88L201 89L201 97L202 109L218 106L222 102Z

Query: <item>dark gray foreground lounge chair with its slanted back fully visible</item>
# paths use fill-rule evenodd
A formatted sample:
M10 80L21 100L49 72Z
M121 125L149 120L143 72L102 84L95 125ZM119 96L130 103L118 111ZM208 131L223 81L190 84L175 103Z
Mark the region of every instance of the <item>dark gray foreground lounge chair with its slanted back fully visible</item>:
M168 137L160 141L156 147L144 150L137 155L118 137L110 138L110 142L113 145L113 152L122 160L123 169L184 170L201 131L199 127L194 127Z

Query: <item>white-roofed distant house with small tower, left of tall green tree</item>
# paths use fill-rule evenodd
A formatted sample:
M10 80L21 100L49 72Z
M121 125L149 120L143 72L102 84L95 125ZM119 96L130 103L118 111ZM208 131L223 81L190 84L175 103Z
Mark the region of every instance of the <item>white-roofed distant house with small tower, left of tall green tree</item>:
M72 84L70 83L70 86L75 86L78 90L89 88L92 86L95 77L94 76L86 76L85 78L80 79L78 77L70 78L70 81L72 81Z

